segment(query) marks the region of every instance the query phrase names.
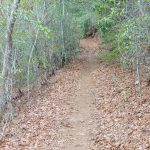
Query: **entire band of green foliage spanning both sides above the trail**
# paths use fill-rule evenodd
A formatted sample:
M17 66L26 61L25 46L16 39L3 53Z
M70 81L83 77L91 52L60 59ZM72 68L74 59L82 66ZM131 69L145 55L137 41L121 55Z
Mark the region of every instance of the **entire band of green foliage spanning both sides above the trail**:
M102 61L112 62L120 56L124 64L132 64L137 48L141 44L149 45L150 15L147 5L141 16L134 12L139 9L139 1L133 3L134 7L130 3L124 0L67 0L63 14L59 0L22 0L13 32L10 62L14 81L19 86L25 85L28 67L33 82L41 73L50 73L74 59L80 38L86 37L92 27L99 29L101 41L111 47L111 52L100 56ZM11 5L12 1L0 4L0 68Z

